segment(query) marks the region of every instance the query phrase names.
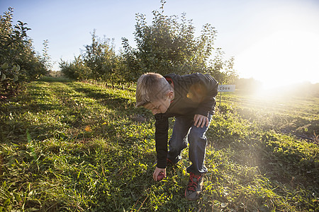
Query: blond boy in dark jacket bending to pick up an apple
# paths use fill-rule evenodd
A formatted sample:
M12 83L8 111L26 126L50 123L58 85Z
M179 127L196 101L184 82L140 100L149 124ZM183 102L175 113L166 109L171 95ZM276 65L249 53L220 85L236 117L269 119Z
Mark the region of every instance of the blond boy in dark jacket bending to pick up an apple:
M189 143L187 167L189 183L185 190L186 199L196 200L201 194L206 136L205 133L215 112L218 82L208 74L192 73L185 76L146 73L140 76L136 88L136 106L145 107L155 115L155 146L157 165L153 179L162 172L166 177L167 163L172 165L181 160L181 151ZM172 137L167 139L169 117L175 117Z

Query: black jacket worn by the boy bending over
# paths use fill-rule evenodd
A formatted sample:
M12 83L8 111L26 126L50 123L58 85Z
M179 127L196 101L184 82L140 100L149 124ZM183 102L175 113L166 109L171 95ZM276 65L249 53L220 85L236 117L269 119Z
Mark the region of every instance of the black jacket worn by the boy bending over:
M179 116L192 118L195 114L207 117L209 113L215 112L215 98L218 93L218 82L208 74L192 73L179 76L171 73L164 77L173 83L174 100L167 112L155 114L155 146L159 168L166 167L168 118Z

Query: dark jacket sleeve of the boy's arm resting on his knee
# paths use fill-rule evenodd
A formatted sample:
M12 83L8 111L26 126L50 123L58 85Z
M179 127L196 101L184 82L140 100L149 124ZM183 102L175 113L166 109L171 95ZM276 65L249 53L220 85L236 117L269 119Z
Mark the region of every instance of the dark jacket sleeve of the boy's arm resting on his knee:
M215 113L216 107L216 95L218 94L218 82L212 76L206 74L201 75L201 84L203 88L205 88L205 96L203 96L203 100L198 105L196 110L196 114L201 114L203 116L208 116L209 112Z

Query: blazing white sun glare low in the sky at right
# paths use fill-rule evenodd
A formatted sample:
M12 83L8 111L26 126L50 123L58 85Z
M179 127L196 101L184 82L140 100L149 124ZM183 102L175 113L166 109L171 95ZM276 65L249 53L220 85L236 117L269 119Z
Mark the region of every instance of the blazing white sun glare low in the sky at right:
M279 30L245 49L235 68L245 78L261 81L265 89L291 83L319 82L319 35Z

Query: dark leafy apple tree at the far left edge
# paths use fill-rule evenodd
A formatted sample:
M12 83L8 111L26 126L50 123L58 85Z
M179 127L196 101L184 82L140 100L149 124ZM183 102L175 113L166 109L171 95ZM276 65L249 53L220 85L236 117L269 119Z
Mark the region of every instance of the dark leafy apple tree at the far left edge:
M13 25L12 18L13 8L0 16L0 92L8 95L15 95L24 82L47 73L27 35L27 23L18 20Z

